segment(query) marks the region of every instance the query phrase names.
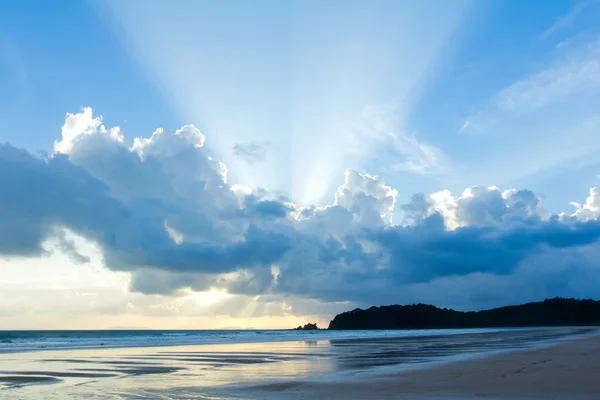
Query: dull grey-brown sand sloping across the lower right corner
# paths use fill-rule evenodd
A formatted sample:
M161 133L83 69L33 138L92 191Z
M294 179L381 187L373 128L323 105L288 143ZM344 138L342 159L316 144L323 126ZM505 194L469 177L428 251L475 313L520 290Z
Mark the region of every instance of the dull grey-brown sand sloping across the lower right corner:
M251 399L600 399L600 336L446 363L379 378L288 382L237 394Z

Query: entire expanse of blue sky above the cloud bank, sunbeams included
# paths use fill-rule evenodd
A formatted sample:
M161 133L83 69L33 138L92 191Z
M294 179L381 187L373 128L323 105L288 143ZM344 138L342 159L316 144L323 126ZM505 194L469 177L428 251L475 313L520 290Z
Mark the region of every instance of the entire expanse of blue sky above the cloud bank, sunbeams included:
M593 2L456 2L433 8L406 2L232 5L3 5L2 139L51 151L64 114L84 106L132 135L194 123L213 136L212 147L225 159L234 141L273 146L269 158L282 176L255 165L250 175L258 172L261 179L254 184L327 202L323 197L339 184L340 171L359 162L345 165L328 160L330 154L314 154L319 136L344 135L339 131L347 130L344 124L364 107L403 103L395 115L401 129L441 150L459 170L451 176L422 176L382 168L394 160L368 155L360 161L366 172L404 189L401 197L442 186L535 185L549 198L547 206L559 211L572 192L553 193L556 179L578 191L595 179L595 166L585 166L592 172L586 170L584 178L581 166L567 167L574 172L548 171L552 157L531 154L548 135L565 137L593 114L587 99L565 96L552 118L546 110L502 116L487 110L503 88L593 45L598 33ZM580 8L584 12L577 13ZM25 24L36 29L23 29ZM487 119L485 126L476 126L476 135L461 135L464 121L478 115ZM515 137L523 145L513 143ZM556 146L547 151L562 148ZM515 156L519 163L528 160L527 170L500 171ZM290 183L306 176L296 170L304 171L311 161L332 169L325 176L328 187L315 196L305 193L309 183ZM580 175L581 184L574 185L565 173ZM242 183L244 178L239 178Z

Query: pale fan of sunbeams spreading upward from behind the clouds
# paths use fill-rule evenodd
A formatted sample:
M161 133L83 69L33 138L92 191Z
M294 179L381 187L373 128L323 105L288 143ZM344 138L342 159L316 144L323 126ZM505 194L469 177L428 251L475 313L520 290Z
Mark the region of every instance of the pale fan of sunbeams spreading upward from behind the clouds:
M210 134L209 146L233 183L317 205L330 202L326 194L350 162L379 156L374 138L352 142L363 110L402 104L397 117L405 119L470 4L398 2L391 13L387 6L351 3L320 5L315 13L317 5L306 2L263 15L236 3L227 26L237 30L230 32L216 22L222 9L206 2L109 3L109 22L117 22L123 44L181 116ZM266 28L273 23L286 34L274 37ZM214 48L216 37L226 45ZM268 144L264 161L248 165L233 155L234 146L248 142ZM428 149L395 142L409 160L411 152Z

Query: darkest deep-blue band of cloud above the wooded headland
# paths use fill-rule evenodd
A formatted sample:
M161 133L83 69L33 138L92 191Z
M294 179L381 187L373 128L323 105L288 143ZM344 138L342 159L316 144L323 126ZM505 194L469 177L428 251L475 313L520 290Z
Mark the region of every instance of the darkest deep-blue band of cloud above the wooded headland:
M441 220L440 214L428 218ZM566 225L556 220L508 229L462 227L454 231L395 227L379 232L376 241L390 254L390 268L402 282L427 282L474 272L510 274L526 257L548 248L594 243L600 223Z

